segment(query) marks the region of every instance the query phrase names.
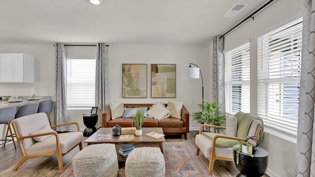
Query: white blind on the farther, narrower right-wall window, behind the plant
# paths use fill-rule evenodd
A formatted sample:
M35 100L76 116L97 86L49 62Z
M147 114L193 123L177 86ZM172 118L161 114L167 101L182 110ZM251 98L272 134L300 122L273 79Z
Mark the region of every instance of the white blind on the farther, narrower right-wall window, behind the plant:
M250 42L232 49L225 56L225 112L250 112Z

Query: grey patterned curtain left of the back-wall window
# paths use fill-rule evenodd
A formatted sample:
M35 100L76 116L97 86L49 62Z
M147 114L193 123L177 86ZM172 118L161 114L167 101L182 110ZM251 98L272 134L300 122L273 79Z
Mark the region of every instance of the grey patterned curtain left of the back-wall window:
M66 47L62 43L55 44L56 49L56 102L55 121L56 124L68 122L67 110L67 61ZM56 131L68 131L68 126L57 127Z

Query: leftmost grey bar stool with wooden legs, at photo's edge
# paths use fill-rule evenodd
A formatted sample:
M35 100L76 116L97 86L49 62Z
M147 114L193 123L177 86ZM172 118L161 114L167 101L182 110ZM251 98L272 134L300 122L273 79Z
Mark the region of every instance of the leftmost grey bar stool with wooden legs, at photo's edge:
M3 146L5 146L7 142L13 141L14 148L16 149L15 141L10 126L11 121L14 119L15 112L16 106L0 108L0 124L6 124L8 126L8 128L6 129L5 139L0 141L4 141L4 143L1 144L1 145L4 144ZM10 131L12 140L7 140L8 131Z

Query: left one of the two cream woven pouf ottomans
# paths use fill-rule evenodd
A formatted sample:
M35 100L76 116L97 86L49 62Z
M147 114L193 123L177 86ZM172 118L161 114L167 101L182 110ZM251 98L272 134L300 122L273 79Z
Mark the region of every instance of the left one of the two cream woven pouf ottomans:
M72 161L76 177L117 177L118 159L114 144L90 145Z

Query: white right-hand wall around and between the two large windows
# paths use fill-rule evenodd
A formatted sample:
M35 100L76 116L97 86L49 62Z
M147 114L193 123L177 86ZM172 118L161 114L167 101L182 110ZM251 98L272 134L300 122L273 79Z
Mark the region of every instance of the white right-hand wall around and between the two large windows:
M251 113L257 114L257 40L255 35L283 23L293 16L302 15L303 1L277 0L265 8L254 21L248 20L225 36L224 48L231 48L250 39L251 42ZM271 177L295 177L296 143L265 132L259 145L269 151L268 174Z

